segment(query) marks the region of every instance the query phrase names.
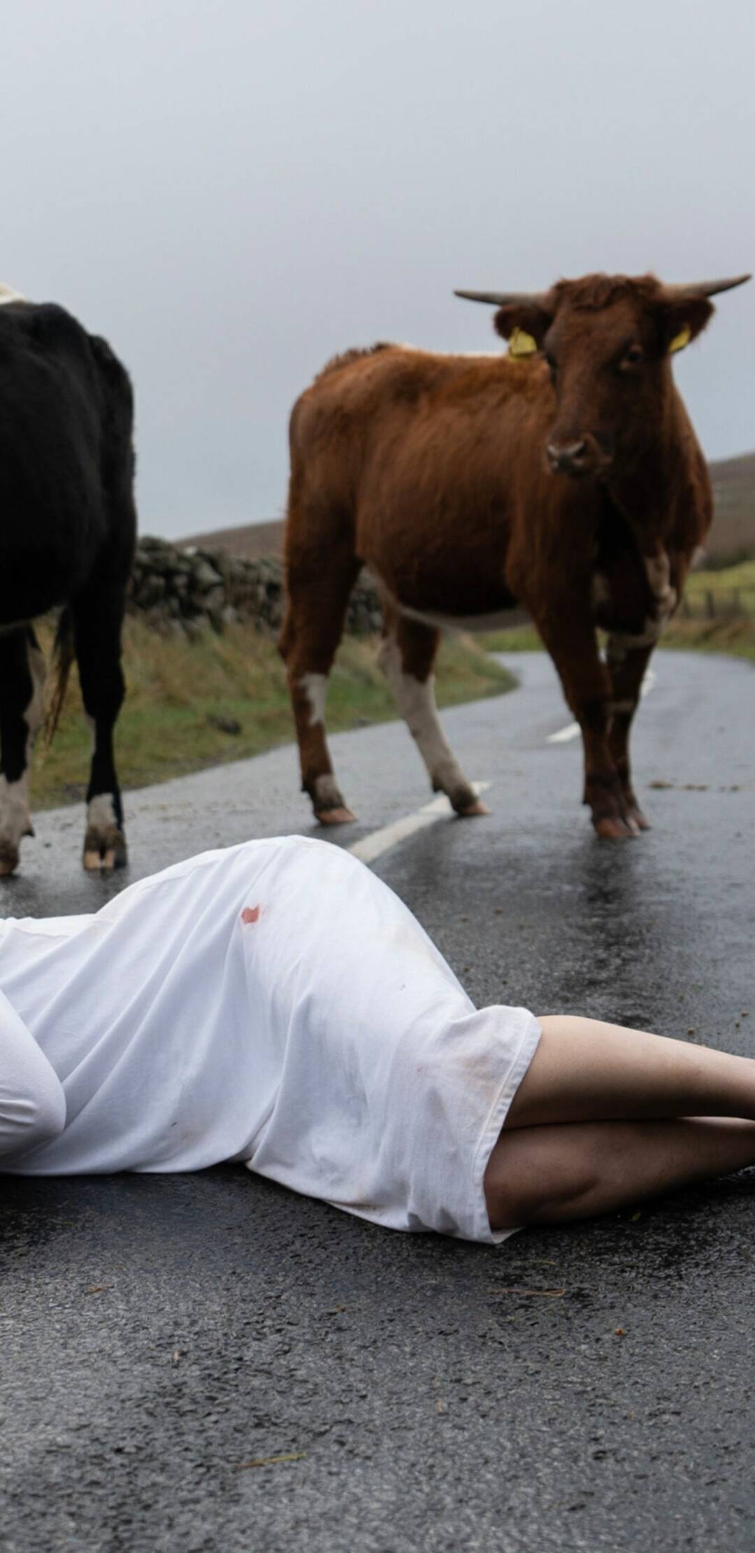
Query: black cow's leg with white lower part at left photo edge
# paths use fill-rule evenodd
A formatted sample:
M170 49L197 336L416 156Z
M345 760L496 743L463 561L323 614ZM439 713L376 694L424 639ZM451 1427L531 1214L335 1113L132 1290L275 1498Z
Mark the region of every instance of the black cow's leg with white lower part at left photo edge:
M31 626L0 634L0 876L19 865L22 836L34 836L30 759L43 714L45 660Z

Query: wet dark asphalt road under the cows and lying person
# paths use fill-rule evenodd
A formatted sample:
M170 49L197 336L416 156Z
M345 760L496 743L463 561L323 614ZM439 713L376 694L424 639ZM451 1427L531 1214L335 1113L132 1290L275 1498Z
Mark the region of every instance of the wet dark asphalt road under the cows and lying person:
M519 691L444 716L491 818L378 871L475 1002L755 1054L755 669L656 658L654 829L611 846L578 742L547 742L569 722L548 662L514 668ZM364 832L426 801L404 728L332 745ZM287 749L134 794L130 877L294 829ZM113 885L79 846L78 811L42 815L0 912L95 909ZM750 1173L497 1252L236 1168L2 1190L2 1548L752 1550Z

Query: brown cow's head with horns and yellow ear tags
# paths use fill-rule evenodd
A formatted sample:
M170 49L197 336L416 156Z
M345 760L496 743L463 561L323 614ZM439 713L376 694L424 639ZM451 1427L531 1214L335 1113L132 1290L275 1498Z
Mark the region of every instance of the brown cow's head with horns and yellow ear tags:
M457 292L497 306L511 356L541 354L556 415L545 455L555 474L609 475L642 457L671 393L670 357L694 340L716 292L735 280L662 286L654 275L586 275L550 292Z

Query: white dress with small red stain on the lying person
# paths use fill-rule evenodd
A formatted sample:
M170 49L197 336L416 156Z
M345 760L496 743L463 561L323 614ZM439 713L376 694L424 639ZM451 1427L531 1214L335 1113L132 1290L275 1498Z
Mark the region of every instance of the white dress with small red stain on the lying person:
M340 848L247 842L90 916L0 922L0 1171L242 1160L376 1224L499 1241L483 1173L538 1039L527 1009L477 1011Z

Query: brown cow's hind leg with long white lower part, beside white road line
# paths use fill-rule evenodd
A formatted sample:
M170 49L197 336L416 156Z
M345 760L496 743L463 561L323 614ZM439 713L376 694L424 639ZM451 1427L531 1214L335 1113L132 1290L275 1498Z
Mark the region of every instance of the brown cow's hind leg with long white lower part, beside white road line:
M460 815L488 814L464 776L438 719L435 676L440 631L407 620L384 603L384 627L378 662L396 697L419 755L427 766L432 790L444 792Z

